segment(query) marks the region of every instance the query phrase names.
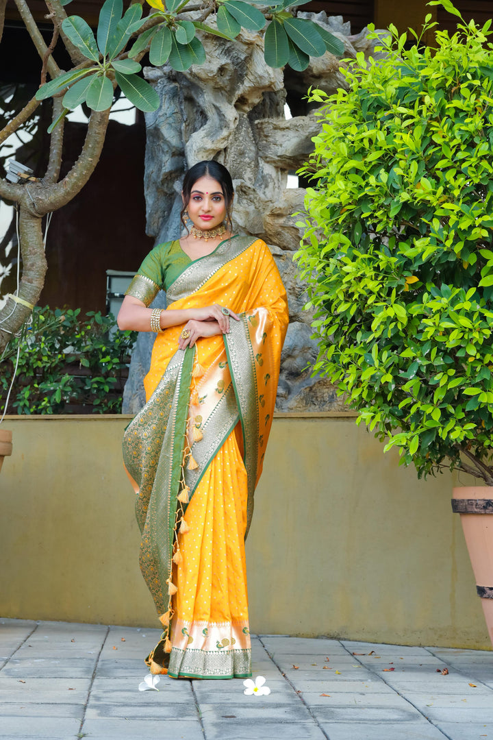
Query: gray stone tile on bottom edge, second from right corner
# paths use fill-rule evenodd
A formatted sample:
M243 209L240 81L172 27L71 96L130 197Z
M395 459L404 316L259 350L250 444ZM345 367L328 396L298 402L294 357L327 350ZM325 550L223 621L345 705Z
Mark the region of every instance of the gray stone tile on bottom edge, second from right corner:
M322 727L330 740L446 740L446 736L426 720L400 724L324 722Z

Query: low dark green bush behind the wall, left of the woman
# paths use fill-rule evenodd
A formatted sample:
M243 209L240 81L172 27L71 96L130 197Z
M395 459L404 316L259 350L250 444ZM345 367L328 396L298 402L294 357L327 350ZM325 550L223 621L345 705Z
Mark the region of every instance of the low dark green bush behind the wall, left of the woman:
M9 413L119 414L136 332L120 332L111 314L35 308L0 363L3 411L19 350Z

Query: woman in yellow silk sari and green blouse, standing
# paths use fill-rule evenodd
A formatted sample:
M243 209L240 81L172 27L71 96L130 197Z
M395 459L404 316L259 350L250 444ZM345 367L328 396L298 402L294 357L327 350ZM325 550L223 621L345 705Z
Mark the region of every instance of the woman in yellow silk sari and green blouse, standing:
M244 540L288 303L268 246L232 234L228 170L199 162L182 196L191 228L150 252L118 314L120 329L157 333L148 401L123 440L140 568L164 627L146 663L174 678L243 678L251 676ZM147 308L160 289L169 307Z

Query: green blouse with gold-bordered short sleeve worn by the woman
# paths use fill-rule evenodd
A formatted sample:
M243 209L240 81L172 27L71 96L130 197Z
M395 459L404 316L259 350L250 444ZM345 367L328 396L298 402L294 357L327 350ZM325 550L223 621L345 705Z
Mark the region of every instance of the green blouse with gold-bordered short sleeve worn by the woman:
M125 295L133 295L149 306L160 290L169 289L191 261L177 239L154 246L140 265Z

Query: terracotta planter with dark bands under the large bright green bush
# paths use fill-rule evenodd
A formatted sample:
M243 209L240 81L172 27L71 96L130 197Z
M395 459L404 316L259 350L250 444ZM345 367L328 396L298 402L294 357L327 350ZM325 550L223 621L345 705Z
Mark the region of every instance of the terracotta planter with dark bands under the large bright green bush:
M452 511L460 514L477 595L493 645L493 486L454 488Z

